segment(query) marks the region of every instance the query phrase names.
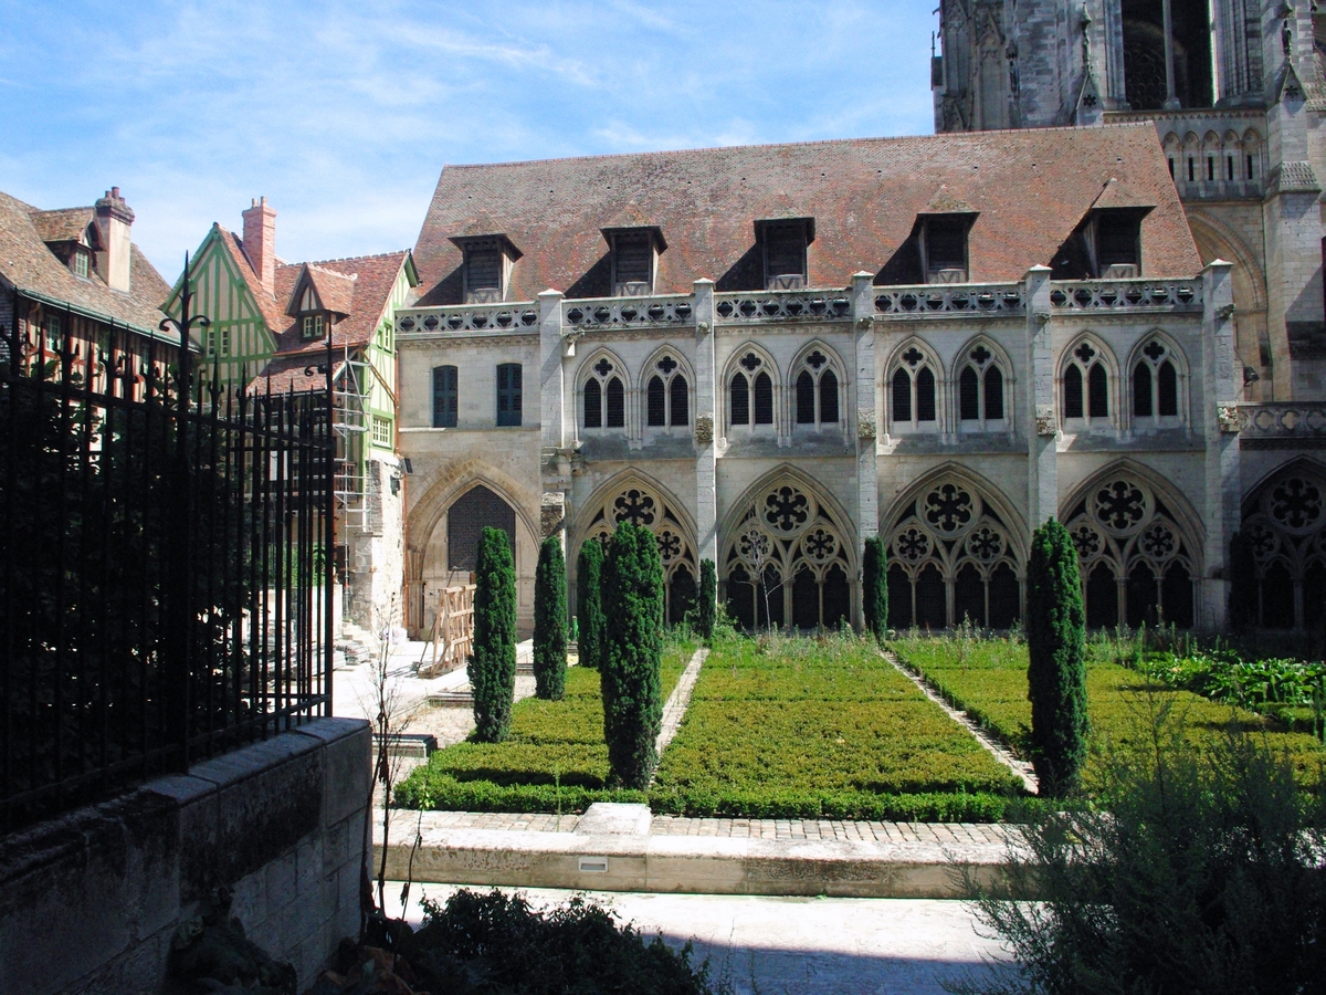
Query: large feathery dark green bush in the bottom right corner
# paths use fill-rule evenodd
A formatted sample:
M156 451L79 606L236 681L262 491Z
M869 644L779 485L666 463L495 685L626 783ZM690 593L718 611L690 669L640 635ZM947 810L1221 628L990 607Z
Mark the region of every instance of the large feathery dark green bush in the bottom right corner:
M955 991L1322 991L1319 799L1260 736L1197 751L1180 726L1146 716L1107 756L1098 807L1032 813L1004 882L972 885L1021 971Z

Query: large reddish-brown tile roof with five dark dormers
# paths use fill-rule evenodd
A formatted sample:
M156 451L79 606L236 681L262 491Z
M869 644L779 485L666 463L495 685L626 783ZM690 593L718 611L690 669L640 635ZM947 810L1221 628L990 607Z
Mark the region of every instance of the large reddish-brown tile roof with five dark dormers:
M701 276L719 289L756 289L762 264L753 223L813 216L810 284L843 287L857 271L879 273L918 214L951 204L979 212L971 280L1013 281L1052 261L1111 178L1111 206L1154 208L1142 223L1143 273L1197 273L1201 261L1147 122L447 166L415 263L423 304L459 302L461 253L450 239L487 228L524 252L508 298L533 300L549 287L607 295L599 228L630 216L660 226L667 239L656 292L688 293Z

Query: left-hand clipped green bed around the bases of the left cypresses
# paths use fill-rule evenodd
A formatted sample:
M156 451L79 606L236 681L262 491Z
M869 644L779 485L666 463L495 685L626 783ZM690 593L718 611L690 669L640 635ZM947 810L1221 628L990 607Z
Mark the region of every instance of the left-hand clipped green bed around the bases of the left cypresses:
M663 700L695 650L691 642L666 646ZM505 743L439 750L396 787L395 801L467 812L583 812L594 801L644 800L643 792L606 787L607 773L598 671L570 667L562 700L516 702Z

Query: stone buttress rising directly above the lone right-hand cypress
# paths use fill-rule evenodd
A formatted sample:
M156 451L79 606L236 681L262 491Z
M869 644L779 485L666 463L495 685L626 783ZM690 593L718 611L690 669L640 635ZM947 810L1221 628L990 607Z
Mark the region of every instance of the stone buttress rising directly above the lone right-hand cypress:
M1050 268L1032 267L1022 281L1026 304L1026 525L1036 531L1059 513Z

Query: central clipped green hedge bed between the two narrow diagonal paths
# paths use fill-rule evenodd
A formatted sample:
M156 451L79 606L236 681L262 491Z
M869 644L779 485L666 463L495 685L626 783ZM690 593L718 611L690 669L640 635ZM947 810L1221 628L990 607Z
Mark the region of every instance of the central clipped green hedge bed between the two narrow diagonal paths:
M1021 783L854 637L724 642L650 792L655 811L998 819Z

